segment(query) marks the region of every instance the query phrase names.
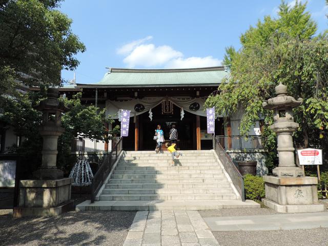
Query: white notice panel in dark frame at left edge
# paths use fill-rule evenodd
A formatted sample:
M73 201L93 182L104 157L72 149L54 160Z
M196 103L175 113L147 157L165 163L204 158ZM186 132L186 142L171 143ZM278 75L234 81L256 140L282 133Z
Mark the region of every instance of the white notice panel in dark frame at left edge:
M16 175L15 160L0 160L0 187L14 187Z

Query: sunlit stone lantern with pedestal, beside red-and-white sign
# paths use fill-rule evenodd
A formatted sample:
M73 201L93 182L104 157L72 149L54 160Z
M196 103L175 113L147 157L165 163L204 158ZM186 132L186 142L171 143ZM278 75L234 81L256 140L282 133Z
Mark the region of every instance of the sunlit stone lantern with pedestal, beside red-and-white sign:
M293 108L302 104L287 95L287 87L281 83L275 88L276 97L264 101L264 109L274 111L274 124L270 128L277 134L279 166L273 176L263 176L265 206L281 213L304 213L323 211L318 203L316 177L305 177L302 168L295 165L293 132L298 128L294 122Z

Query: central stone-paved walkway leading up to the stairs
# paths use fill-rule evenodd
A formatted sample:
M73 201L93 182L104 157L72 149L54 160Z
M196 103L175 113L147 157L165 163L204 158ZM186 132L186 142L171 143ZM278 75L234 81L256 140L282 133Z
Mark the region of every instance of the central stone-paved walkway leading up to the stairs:
M197 211L139 211L124 246L218 246Z

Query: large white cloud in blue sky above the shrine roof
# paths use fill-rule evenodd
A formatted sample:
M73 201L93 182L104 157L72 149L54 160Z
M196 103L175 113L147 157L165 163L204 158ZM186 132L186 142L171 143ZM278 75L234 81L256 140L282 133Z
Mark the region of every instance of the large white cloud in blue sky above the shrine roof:
M220 66L221 60L212 56L184 58L180 51L171 46L144 44L152 36L135 40L117 49L117 54L124 55L123 62L128 67L165 67L165 68L200 68Z

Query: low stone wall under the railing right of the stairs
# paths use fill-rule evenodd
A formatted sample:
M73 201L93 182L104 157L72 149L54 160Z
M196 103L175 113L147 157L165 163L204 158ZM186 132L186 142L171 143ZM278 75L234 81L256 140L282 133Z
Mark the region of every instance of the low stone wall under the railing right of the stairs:
M233 162L238 160L256 160L256 175L263 176L268 174L268 168L265 166L265 160L267 159L267 152L264 150L226 150L230 155Z

